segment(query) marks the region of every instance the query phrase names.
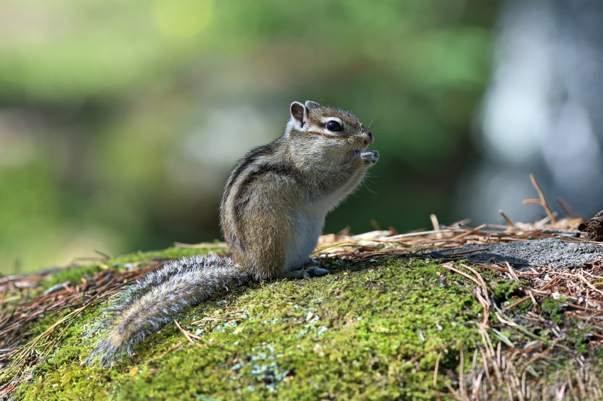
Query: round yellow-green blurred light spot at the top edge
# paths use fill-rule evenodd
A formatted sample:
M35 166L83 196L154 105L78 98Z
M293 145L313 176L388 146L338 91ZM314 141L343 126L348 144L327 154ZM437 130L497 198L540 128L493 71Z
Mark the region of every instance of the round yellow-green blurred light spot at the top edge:
M203 31L212 19L212 0L153 0L153 21L165 35L190 38Z

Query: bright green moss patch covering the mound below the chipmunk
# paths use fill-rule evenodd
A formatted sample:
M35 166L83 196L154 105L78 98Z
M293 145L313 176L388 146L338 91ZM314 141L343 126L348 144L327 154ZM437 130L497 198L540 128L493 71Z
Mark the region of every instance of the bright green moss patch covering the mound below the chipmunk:
M328 264L332 274L322 278L217 293L180 322L242 310L227 315L239 319L185 326L201 340L150 363L143 361L185 340L175 325L148 336L134 347L133 358L113 368L82 365L93 341L82 333L99 316L90 309L15 398L430 400L435 395L421 388L433 387L440 352L434 348L448 344L438 385L447 391L443 381L457 380L460 347L474 348L479 341L475 322L482 309L472 283L455 276L440 287L437 273L447 270L421 260Z

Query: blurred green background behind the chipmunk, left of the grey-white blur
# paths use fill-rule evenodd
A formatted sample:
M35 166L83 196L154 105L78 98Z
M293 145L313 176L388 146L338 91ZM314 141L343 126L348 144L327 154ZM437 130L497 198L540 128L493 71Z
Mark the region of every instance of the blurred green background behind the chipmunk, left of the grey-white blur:
M497 4L0 1L0 273L219 238L229 170L295 100L374 120L325 232L450 223Z

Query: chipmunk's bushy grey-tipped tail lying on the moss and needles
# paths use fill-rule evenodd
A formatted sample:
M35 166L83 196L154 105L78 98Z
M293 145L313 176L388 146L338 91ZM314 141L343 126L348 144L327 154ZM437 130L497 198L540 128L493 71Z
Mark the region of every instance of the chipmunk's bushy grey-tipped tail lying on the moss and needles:
M176 314L224 286L241 285L249 275L230 258L216 255L174 260L144 275L110 308L111 331L92 351L88 363L111 366L146 334L172 322Z

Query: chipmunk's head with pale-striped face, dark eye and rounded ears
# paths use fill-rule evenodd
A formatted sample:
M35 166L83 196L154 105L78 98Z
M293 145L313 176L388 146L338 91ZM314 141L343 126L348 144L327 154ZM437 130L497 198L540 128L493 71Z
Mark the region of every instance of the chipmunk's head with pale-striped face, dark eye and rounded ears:
M352 162L374 141L371 131L356 116L314 101L291 104L285 134L296 150L320 156L325 163L337 160L337 164Z

